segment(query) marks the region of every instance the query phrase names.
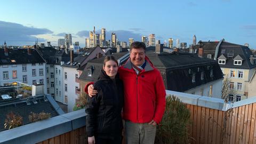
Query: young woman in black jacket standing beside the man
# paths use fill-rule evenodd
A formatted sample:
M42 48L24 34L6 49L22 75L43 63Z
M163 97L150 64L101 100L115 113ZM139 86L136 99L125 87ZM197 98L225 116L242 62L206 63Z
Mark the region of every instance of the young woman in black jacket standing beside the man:
M105 57L99 80L94 83L98 94L89 97L85 109L89 144L122 142L124 92L117 71L117 60L113 56Z

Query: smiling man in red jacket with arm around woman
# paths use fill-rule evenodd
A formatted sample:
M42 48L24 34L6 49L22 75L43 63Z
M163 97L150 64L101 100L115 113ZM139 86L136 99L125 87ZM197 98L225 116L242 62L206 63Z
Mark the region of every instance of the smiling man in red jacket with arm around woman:
M161 122L165 109L162 76L145 53L145 43L132 43L129 60L118 69L124 83L123 119L127 144L154 143L156 125ZM97 91L91 86L89 94L95 95Z

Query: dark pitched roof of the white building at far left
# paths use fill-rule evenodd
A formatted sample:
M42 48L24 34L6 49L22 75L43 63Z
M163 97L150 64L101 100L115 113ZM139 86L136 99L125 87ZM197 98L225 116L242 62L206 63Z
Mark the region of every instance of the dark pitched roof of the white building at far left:
M35 49L30 50L31 54L28 54L27 49L8 49L8 55L5 55L4 49L0 49L0 65L18 65L45 62Z

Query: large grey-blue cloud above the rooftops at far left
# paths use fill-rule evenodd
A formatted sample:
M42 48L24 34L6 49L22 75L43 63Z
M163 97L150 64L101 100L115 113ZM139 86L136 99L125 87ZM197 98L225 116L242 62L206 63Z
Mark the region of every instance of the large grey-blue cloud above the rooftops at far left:
M31 45L36 42L36 35L52 34L46 28L34 28L20 25L19 23L0 21L0 43L8 45ZM38 38L38 42L45 42L46 39Z

